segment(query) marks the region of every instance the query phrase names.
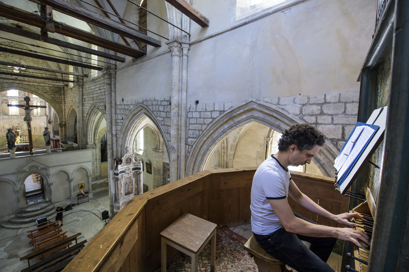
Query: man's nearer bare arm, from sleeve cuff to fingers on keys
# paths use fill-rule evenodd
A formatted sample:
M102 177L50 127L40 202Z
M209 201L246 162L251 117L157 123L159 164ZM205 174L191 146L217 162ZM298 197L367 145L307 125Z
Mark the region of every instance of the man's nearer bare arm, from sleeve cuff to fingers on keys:
M335 237L339 240L351 241L360 248L364 247L355 239L361 239L368 245L371 244L368 235L361 230L321 226L295 217L287 199L269 199L268 201L288 232L312 237Z

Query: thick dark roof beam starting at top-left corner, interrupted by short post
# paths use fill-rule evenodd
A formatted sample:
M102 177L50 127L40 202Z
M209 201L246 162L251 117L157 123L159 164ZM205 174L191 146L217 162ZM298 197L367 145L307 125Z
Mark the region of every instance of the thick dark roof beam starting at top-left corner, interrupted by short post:
M0 16L8 18L17 22L22 22L25 24L32 25L34 27L44 27L45 22L38 16L34 16L32 13L18 9L16 7L4 4L0 2ZM121 53L130 57L142 57L145 52L139 49L120 44L112 40L102 38L99 35L92 34L75 27L70 27L67 24L59 23L58 27L55 28L55 32L67 37L74 38L83 42L88 42L90 44L95 44L97 46L110 49L117 53Z

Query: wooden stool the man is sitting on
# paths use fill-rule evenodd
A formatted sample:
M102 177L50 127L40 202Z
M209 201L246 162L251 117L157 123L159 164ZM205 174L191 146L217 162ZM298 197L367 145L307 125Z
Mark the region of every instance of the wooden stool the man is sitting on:
M254 257L258 272L285 271L284 263L265 252L256 241L254 235L252 235L252 237L250 237L250 239L244 244L244 249L249 253L250 257Z

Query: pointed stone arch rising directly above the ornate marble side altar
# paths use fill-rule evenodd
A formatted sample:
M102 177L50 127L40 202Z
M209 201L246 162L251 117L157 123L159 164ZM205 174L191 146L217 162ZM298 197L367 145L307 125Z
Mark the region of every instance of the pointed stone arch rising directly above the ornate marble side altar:
M157 147L162 146L162 142L160 141L163 141L169 156L169 143L163 140L166 138L164 137L165 133L162 126L157 122L157 119L151 110L142 103L137 104L137 106L129 112L122 124L118 138L118 155L122 157L125 154L127 147L133 148L135 146L135 137L138 131L145 126L149 126L153 131L153 134L155 135L154 137L156 137L155 145Z

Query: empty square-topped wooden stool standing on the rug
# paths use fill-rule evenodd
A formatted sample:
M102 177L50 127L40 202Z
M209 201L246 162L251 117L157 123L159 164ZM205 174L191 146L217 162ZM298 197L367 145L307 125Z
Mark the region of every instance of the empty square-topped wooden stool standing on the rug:
M210 271L216 261L216 224L185 213L160 233L162 268L166 271L166 244L192 257L192 272L198 271L198 256L211 239Z

